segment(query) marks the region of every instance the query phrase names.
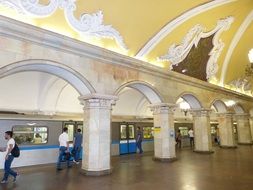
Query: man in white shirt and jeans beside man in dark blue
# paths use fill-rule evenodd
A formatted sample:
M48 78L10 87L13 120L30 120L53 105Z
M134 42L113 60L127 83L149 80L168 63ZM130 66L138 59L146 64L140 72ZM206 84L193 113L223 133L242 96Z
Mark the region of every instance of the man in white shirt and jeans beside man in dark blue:
M57 162L57 170L62 170L61 168L61 161L64 157L64 155L69 153L69 136L68 136L68 128L63 128L63 133L59 136L59 143L60 143L60 149L59 149L59 157ZM70 160L66 159L67 167L70 168Z

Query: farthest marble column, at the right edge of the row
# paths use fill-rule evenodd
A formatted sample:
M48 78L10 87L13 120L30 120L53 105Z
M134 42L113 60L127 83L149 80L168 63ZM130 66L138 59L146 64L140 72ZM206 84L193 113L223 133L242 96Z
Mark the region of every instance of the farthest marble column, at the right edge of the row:
M238 144L252 144L249 114L236 114Z

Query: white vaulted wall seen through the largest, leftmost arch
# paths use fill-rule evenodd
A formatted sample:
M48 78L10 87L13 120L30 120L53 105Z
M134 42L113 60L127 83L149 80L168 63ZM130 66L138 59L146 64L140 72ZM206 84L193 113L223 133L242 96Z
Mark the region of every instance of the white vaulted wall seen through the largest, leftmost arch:
M1 111L82 113L75 88L47 73L22 72L1 78L0 89Z

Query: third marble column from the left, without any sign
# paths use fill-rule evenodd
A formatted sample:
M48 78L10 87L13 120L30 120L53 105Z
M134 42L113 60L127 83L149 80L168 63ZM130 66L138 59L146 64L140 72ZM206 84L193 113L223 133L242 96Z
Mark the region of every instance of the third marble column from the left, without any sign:
M213 153L210 126L210 109L192 110L194 131L194 152Z

